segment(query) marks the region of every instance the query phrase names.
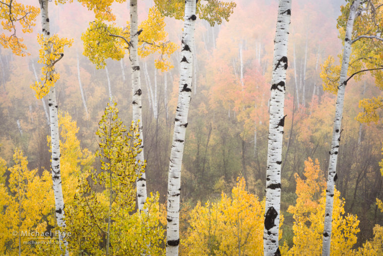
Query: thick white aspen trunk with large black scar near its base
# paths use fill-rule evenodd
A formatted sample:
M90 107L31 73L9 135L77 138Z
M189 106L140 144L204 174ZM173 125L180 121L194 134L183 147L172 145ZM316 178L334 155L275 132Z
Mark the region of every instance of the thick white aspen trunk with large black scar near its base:
M274 39L273 75L270 96L270 121L266 170L266 207L264 254L281 255L278 246L281 204L281 164L284 101L287 69L287 44L291 17L291 0L280 0Z

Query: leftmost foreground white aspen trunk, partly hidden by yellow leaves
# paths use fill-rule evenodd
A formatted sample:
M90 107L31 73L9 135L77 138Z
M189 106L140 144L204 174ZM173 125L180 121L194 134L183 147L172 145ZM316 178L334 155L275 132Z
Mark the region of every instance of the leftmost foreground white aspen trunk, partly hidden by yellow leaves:
M39 0L41 9L41 27L45 40L50 37L49 30L49 16L48 16L48 0ZM50 48L45 50L46 55L50 54ZM48 74L48 77L51 74ZM58 133L58 116L57 116L57 103L56 103L56 91L55 87L50 87L48 92L48 106L50 115L50 136L51 136L51 151L52 151L52 181L53 181L53 194L55 202L55 213L57 226L59 228L65 228L65 212L64 212L64 198L61 189L61 171L60 171L60 139ZM65 255L69 255L68 241L65 234L59 231L58 239L60 242L61 250L65 251Z

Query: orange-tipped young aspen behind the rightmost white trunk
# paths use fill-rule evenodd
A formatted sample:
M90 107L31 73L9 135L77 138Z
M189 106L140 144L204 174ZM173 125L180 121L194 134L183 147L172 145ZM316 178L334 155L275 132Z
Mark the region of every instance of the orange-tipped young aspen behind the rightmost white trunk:
M326 204L326 181L321 174L318 160L315 163L308 158L304 162L304 177L295 173L296 204L290 206L288 212L293 214L293 243L288 248L285 243L282 255L320 255L322 252L323 215ZM345 214L345 200L335 189L333 210L333 234L331 255L352 255L352 247L356 243L359 232L359 220L356 215Z

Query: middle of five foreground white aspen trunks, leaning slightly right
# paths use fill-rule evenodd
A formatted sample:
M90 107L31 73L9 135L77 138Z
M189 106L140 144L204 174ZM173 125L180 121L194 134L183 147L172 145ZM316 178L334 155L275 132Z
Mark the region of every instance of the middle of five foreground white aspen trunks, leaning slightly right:
M196 19L196 0L185 0L185 16L181 41L181 72L168 177L166 233L166 255L168 256L178 255L181 165L187 127L187 114L189 103L192 99L193 44Z

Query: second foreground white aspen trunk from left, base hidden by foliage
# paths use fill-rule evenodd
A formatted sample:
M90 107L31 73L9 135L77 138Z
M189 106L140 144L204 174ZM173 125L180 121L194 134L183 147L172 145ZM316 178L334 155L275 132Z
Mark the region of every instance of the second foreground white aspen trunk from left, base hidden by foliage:
M133 121L135 125L139 126L139 140L141 140L141 151L137 154L136 160L141 164L144 163L144 138L142 135L142 105L141 105L141 81L140 81L140 66L138 63L138 17L137 17L137 0L130 2L130 15L131 15L131 46L130 57L132 65L132 90L133 90ZM137 141L135 141L137 142ZM138 209L142 211L144 203L146 202L146 176L145 172L141 177L137 178L137 201Z

